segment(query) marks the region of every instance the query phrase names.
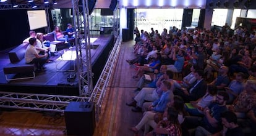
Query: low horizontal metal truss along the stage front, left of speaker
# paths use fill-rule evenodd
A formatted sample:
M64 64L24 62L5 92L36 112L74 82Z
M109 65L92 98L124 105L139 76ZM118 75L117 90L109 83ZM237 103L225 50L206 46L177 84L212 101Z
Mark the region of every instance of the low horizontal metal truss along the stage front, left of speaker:
M88 97L0 92L0 106L25 110L62 112L69 102L88 102Z

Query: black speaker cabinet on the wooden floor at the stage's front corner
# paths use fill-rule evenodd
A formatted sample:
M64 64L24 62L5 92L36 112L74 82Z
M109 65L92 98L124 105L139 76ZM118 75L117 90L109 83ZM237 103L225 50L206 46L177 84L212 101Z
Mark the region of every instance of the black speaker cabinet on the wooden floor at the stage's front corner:
M94 109L94 103L91 102L70 102L64 111L67 135L93 135Z

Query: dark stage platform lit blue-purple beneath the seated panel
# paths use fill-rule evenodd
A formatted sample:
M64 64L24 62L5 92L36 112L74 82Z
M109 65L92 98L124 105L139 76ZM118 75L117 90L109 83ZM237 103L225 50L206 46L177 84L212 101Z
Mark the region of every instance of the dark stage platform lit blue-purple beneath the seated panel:
M103 70L110 50L114 46L113 35L99 35L93 43L91 42L92 71L94 73L93 84L96 84ZM84 53L85 54L85 53ZM75 46L72 49L60 50L54 60L46 63L46 71L36 73L33 79L20 79L6 81L3 68L9 61L8 52L0 52L0 91L23 92L29 94L54 94L54 95L79 95L78 79L67 81L70 74L76 74ZM24 76L24 75L11 75Z

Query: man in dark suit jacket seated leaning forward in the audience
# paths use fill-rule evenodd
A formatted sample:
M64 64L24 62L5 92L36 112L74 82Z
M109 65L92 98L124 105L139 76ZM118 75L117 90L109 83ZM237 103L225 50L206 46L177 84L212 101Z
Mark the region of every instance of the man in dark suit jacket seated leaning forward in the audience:
M190 89L175 89L174 94L179 95L183 98L184 102L195 101L198 98L203 97L207 90L207 82L203 79L203 70L195 71L195 78L197 80L194 82Z

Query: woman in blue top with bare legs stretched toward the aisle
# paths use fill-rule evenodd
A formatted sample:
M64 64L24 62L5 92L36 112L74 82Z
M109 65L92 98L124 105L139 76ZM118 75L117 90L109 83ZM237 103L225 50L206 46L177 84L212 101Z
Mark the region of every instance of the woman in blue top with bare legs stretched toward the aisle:
M161 63L159 56L160 56L159 54L155 54L153 56L153 62L149 63L148 65L139 66L139 70L138 70L137 74L135 76L133 76L132 78L141 77L145 71L153 72L153 71L155 71L155 69L159 69L160 63Z

